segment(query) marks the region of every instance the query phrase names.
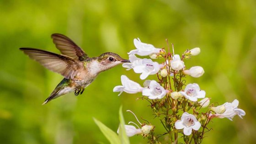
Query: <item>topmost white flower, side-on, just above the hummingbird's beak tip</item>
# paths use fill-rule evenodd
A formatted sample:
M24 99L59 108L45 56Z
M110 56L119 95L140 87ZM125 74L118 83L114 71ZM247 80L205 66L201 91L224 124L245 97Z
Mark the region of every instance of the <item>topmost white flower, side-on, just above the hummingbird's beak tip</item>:
M160 53L161 49L155 48L153 45L142 43L139 38L134 39L133 43L137 50L131 50L128 54L129 55L140 55L140 56L146 56L153 53Z

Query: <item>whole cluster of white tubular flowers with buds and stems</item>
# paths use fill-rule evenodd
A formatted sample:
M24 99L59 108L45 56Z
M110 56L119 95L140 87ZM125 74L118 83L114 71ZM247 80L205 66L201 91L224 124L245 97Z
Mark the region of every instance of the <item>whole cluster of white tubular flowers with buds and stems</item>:
M194 143L200 144L206 130L210 130L207 126L213 118L232 120L235 115L240 116L240 118L245 115L244 110L237 108L239 104L237 99L232 103L227 102L214 107L213 104L210 104L210 99L205 97L206 92L200 89L198 84L185 84L184 78L186 76L199 78L204 74L203 67L192 66L187 69L184 63L184 60L198 55L201 51L200 48L186 50L182 55L175 55L173 46L171 53L170 50L166 52L164 48L155 48L153 45L142 43L139 38L134 39L133 42L136 50L131 50L128 53L130 63L123 64L123 67L127 70L133 69L135 73L140 74L142 80L147 79L149 75L156 75L158 80L144 80L143 86L141 86L122 75L122 85L114 87L113 91L120 92L120 94L123 92L141 93L141 99L148 100L153 114L160 119L160 123L166 130L161 135L171 135L166 137L171 143L178 144L178 134L181 133L186 144L190 144L192 139L194 139ZM151 59L141 59L135 55L149 56ZM163 63L152 60L160 58L164 59ZM206 112L201 112L201 108L206 107L209 107ZM138 119L137 121L139 122ZM130 123L135 124L133 122L128 124ZM151 144L160 142L159 137L155 136L153 132L155 126L149 122L148 124L139 122L139 124L140 127L135 124L138 129L133 125L125 125L128 137L142 134L149 139ZM165 141L164 143L168 142Z

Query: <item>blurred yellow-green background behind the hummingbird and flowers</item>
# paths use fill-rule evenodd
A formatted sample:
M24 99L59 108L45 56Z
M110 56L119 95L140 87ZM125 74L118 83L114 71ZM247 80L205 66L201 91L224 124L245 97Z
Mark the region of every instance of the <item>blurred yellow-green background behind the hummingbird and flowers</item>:
M41 105L63 78L24 55L20 47L59 53L50 38L69 36L90 56L111 51L128 58L133 39L155 47L175 45L176 54L201 48L185 65L201 65L198 83L211 102L240 101L244 119L214 119L204 144L255 144L256 134L256 1L255 0L0 0L0 143L108 143L92 117L114 131L118 109L163 130L139 94L113 93L120 76L143 84L139 74L121 65L101 73L77 97L67 94ZM150 76L148 79L156 79ZM134 117L124 112L126 122ZM143 121L143 120L141 120ZM131 144L146 144L141 136Z

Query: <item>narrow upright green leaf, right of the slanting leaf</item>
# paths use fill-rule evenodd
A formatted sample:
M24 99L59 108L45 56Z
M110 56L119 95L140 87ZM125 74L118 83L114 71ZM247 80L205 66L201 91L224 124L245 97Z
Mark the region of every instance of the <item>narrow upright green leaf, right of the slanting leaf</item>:
M123 119L123 112L122 112L122 106L119 109L119 120L120 120L120 126L119 126L119 138L121 139L122 144L130 144L129 138L126 135L125 128L124 128L124 119Z

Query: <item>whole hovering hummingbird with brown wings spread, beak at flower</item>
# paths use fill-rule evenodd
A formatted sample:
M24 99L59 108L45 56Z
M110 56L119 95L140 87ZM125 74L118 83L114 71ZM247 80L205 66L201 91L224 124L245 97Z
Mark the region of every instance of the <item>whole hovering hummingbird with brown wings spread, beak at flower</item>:
M36 60L48 70L64 76L43 104L70 92L75 92L75 96L82 94L85 87L91 84L99 73L116 65L130 62L112 52L90 58L67 36L52 34L51 37L61 54L35 48L20 48L31 59Z

